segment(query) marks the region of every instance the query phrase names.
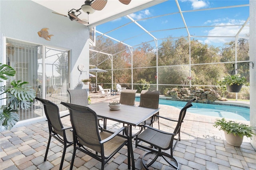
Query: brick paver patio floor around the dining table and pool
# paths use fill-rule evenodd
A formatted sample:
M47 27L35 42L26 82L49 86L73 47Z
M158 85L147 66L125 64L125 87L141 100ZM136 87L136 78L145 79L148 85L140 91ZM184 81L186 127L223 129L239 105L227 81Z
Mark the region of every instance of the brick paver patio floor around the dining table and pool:
M119 101L120 95L98 98L100 93L90 93L92 103L102 101ZM136 105L139 103L136 102ZM180 109L160 105L160 115L177 119ZM175 149L174 156L180 163L181 170L255 170L256 150L249 138L244 138L240 147L229 145L224 133L213 124L216 117L186 113L181 129L181 141ZM63 120L70 125L69 118ZM249 123L244 121L244 123ZM108 121L107 128L117 130L122 127L114 121ZM157 125L154 125L157 127ZM172 131L174 124L160 119L160 129ZM136 132L134 128L134 132ZM48 124L45 120L38 123L22 125L0 132L0 169L1 170L58 170L63 146L52 139L48 158L44 162L44 154L48 141ZM141 148L134 149L136 170L142 168L142 156L146 153ZM66 151L63 169L70 168L73 148ZM105 166L105 170L127 169L127 147L124 146ZM150 158L148 158L150 159ZM76 154L73 170L97 170L101 163L86 154ZM150 170L172 170L166 162L158 159Z

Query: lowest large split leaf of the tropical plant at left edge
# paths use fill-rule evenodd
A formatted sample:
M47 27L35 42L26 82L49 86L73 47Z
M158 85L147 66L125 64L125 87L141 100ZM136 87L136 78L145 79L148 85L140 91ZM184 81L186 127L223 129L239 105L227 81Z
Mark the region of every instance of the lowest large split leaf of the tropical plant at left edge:
M15 109L2 105L0 108L0 125L6 130L10 130L19 121L17 112Z

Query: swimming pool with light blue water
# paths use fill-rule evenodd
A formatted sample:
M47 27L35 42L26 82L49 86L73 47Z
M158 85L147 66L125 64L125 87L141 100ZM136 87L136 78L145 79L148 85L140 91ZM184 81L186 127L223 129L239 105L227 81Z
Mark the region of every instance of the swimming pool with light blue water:
M135 101L140 101L140 97L136 97ZM186 102L159 99L159 104L182 109L186 105ZM214 117L225 117L227 119L236 119L241 121L250 121L250 109L248 108L204 103L192 103L192 105L192 107L187 109L187 111L190 113Z

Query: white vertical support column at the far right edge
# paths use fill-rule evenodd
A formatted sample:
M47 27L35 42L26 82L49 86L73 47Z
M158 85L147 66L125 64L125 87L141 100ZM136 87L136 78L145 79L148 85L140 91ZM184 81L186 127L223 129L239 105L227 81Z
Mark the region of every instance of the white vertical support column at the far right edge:
M250 67L250 125L256 127L256 0L250 0L250 61L254 68ZM253 136L251 144L256 149L256 136Z

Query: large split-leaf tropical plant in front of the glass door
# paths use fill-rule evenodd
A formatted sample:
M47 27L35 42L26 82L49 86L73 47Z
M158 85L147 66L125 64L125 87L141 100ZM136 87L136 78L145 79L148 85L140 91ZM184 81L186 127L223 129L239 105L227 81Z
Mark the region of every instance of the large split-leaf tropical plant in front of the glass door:
M12 67L0 63L0 82L10 79L15 74L16 71ZM6 93L6 97L0 100L7 99L7 105L0 107L0 125L8 130L19 121L18 110L20 108L29 109L31 102L36 97L36 92L26 81L14 80L10 85L11 87L0 86L0 95Z

